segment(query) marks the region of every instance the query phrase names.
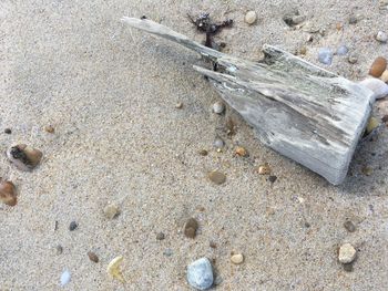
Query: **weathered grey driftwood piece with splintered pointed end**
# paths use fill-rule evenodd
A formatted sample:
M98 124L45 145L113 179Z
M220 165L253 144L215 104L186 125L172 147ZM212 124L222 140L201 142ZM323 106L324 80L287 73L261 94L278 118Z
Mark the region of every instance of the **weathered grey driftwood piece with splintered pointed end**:
M146 19L123 21L212 60L217 72L194 69L210 77L262 143L334 185L344 181L375 102L372 91L272 45L264 45L261 62L252 62Z

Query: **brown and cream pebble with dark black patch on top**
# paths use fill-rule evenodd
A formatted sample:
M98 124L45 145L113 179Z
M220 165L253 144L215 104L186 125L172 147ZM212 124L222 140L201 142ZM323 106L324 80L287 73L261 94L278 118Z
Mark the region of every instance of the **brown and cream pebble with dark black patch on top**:
M8 159L20 170L29 172L38 166L42 152L31 146L19 144L7 150Z

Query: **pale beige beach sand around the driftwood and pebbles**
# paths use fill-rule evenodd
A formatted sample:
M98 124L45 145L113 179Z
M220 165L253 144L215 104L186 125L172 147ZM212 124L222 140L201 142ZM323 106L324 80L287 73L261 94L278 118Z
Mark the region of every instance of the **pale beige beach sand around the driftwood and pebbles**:
M307 33L282 21L292 8L326 35L305 44ZM251 9L258 22L248 27ZM345 184L334 187L261 145L231 108L213 114L219 97L192 70L203 64L197 55L119 21L146 14L202 41L185 17L201 11L234 19L216 40L252 60L270 43L306 45L304 58L317 63L319 48L345 43L358 63L336 56L328 69L357 81L376 56L388 56L388 45L374 40L388 22L378 1L1 1L0 148L27 143L44 158L22 173L0 156L0 176L19 196L16 207L0 206L0 290L60 290L65 269L64 290L190 290L185 268L201 257L214 260L216 290L386 290L387 128L360 146ZM354 11L363 20L350 25ZM222 153L212 147L217 135L226 142ZM233 155L237 145L248 158ZM203 148L208 156L198 155ZM265 162L278 177L273 185L256 172ZM226 174L225 184L210 183L213 169ZM103 215L109 202L121 208L113 220ZM190 217L200 222L194 240L182 233ZM344 228L347 219L355 232ZM79 227L69 231L73 220ZM337 261L344 242L358 250L353 272ZM244 253L244 263L232 264L232 251ZM124 258L124 284L105 271L116 256Z

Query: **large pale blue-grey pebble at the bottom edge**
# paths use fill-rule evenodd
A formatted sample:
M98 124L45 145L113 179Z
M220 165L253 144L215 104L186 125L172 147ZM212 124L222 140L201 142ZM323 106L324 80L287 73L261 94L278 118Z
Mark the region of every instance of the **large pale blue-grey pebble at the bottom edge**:
M187 282L196 290L206 290L213 285L213 267L207 258L201 258L187 266Z

